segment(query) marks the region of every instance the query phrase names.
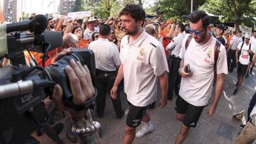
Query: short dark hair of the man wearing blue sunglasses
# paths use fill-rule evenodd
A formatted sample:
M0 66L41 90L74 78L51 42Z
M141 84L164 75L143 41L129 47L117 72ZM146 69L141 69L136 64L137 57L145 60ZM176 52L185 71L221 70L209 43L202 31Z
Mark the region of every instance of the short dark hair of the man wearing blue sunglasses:
M191 23L197 23L202 19L203 28L207 28L210 25L210 16L206 14L205 11L196 10L190 13L188 16L183 16L183 18L188 19Z

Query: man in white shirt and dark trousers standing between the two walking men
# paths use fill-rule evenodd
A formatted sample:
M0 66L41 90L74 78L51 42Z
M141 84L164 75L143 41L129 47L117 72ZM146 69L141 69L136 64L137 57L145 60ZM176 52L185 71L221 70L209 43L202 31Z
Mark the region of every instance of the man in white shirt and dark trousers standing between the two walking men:
M184 30L185 26L183 23L178 23L175 28L175 33L178 35L166 46L166 49L171 51L171 59L169 60L169 88L167 94L167 99L169 100L172 100L174 96L174 88L175 94L178 95L178 85L181 83L181 77L178 75L178 68L181 63L179 53L181 52L182 40L185 38L185 34L183 33Z

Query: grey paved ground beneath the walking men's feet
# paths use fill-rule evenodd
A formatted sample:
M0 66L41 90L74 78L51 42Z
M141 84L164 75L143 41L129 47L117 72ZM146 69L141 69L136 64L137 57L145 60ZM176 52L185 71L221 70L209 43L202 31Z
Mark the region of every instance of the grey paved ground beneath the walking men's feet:
M198 126L191 129L184 143L232 143L241 130L239 128L240 121L233 119L233 114L243 109L247 110L250 98L255 92L255 81L256 77L255 73L253 73L244 80L238 94L234 96L236 73L228 74L225 77L223 96L221 96L215 114L208 117L206 111L210 105L206 106L198 121ZM163 109L157 106L155 109L149 110L149 113L151 113L151 123L154 125L154 132L149 133L144 138L135 138L134 143L174 143L176 135L181 128L181 122L176 121L175 101L176 96L173 101L168 101L167 106ZM124 94L122 95L122 104L124 109L128 108ZM126 116L122 119L116 118L110 97L107 98L106 105L104 118L98 118L94 113L95 120L102 124L102 143L122 143ZM60 133L60 138L65 141L67 140L64 131ZM41 136L39 140L42 143L53 143L53 141L48 140L46 135Z

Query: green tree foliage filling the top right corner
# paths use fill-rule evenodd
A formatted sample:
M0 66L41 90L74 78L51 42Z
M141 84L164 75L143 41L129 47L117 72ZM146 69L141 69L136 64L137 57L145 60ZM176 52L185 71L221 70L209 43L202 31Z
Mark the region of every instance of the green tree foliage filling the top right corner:
M225 22L235 23L235 30L239 31L240 24L252 25L255 16L256 0L206 0L200 9L224 16Z

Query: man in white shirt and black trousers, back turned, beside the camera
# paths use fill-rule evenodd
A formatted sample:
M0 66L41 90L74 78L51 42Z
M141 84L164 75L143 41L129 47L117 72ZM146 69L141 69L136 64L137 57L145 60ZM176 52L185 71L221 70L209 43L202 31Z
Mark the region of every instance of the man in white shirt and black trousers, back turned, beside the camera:
M121 64L117 45L114 45L114 43L108 40L110 30L110 26L102 24L100 26L100 38L93 41L89 45L89 49L95 53L95 63L97 69L95 87L98 91L96 100L97 115L100 117L103 116L105 109L106 92L107 94L110 94L110 88L114 84L114 79L117 76L117 69ZM122 118L122 116L124 116L124 111L122 109L122 103L119 97L119 89L117 91L117 95L117 99L112 99L112 103L117 118Z

